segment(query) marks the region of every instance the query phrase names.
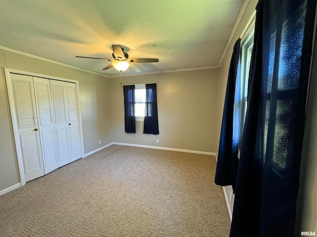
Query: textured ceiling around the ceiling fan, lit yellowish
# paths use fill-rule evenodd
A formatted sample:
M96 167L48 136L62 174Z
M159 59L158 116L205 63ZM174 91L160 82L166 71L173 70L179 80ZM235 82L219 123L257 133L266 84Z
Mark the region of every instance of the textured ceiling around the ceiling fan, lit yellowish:
M0 46L119 76L112 44L154 73L218 66L244 0L0 0ZM128 69L123 75L138 74Z

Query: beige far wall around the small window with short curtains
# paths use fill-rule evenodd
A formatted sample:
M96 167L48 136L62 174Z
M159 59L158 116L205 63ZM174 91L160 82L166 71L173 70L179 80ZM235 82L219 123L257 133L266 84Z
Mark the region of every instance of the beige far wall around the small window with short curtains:
M135 134L124 132L123 89L120 78L113 78L113 141L216 152L217 72L205 69L122 78L123 84L157 83L159 135L143 134L143 121L136 122Z

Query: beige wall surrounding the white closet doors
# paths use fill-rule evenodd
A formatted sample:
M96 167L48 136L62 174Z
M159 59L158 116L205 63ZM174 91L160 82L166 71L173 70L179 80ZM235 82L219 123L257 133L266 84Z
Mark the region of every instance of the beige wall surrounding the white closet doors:
M20 182L4 68L78 80L85 154L112 142L109 79L0 49L0 190Z

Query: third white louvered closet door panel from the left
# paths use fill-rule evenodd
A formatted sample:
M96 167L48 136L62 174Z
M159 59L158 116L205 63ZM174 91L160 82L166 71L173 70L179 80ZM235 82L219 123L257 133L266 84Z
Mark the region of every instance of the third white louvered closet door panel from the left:
M71 162L65 82L50 80L58 166Z

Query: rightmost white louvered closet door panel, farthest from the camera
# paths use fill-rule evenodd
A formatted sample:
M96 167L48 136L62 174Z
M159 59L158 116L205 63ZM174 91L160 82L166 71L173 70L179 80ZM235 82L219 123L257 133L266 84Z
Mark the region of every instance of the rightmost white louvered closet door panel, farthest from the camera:
M81 158L80 136L78 125L78 112L76 100L75 83L65 82L66 98L67 98L67 113L68 113L68 127L70 135L70 152L71 160Z

